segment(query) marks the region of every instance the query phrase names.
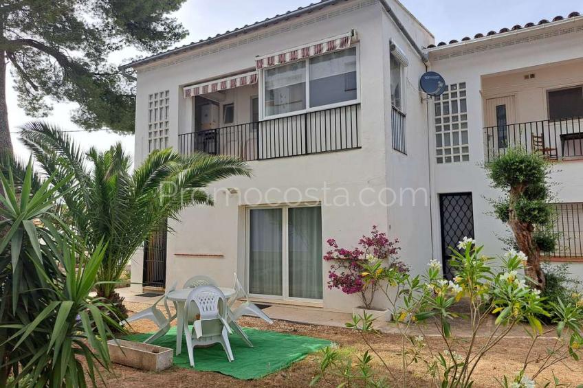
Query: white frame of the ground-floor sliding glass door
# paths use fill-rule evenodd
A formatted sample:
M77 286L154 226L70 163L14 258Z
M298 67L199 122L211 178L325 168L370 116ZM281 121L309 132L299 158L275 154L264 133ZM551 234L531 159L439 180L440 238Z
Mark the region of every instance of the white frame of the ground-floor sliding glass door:
M322 299L309 299L309 298L298 298L298 297L290 297L289 296L289 218L288 218L288 211L289 209L294 209L297 207L320 207L322 208L321 203L302 203L294 206L290 205L257 205L257 206L248 206L245 209L245 290L252 298L259 298L259 299L274 299L274 300L282 300L282 301L298 301L298 302L311 302L311 303L323 303L324 302L324 291L325 291L325 284L324 284L324 256L322 253L322 260L320 260L320 265L322 266ZM250 227L251 227L251 210L253 209L281 209L281 222L282 222L282 236L281 236L281 251L282 251L282 273L281 273L281 281L283 282L281 293L282 295L263 295L263 294L253 294L250 293ZM320 220L322 222L322 220ZM323 229L322 229L323 233ZM320 236L322 239L322 247L324 243L324 237Z

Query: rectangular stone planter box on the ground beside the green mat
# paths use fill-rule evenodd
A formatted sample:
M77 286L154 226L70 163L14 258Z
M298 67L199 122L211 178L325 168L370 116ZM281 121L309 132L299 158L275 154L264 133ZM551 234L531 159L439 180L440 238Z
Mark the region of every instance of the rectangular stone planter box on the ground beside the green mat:
M159 372L170 367L173 361L173 350L169 347L124 339L110 339L107 347L111 361L137 369Z

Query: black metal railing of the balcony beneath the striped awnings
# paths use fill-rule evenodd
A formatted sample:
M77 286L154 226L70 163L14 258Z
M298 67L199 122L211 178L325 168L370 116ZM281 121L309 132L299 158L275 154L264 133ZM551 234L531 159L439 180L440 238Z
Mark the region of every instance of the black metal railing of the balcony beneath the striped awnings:
M243 160L360 148L360 104L179 135L183 155L208 152Z

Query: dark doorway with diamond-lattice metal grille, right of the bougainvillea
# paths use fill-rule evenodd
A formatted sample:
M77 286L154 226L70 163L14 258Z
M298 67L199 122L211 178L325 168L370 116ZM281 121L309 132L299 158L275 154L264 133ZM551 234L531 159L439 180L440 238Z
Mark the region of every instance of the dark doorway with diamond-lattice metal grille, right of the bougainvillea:
M439 194L441 214L441 254L443 277L452 279L454 274L449 259L457 243L464 237L474 238L474 210L472 193Z

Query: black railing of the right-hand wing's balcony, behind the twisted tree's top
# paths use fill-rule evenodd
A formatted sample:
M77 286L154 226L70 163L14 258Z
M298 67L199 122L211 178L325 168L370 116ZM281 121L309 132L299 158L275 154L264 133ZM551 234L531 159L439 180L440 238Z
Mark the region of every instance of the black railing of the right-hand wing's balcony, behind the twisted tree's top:
M583 117L489 126L483 130L486 161L504 155L512 147L540 152L549 160L583 157Z

